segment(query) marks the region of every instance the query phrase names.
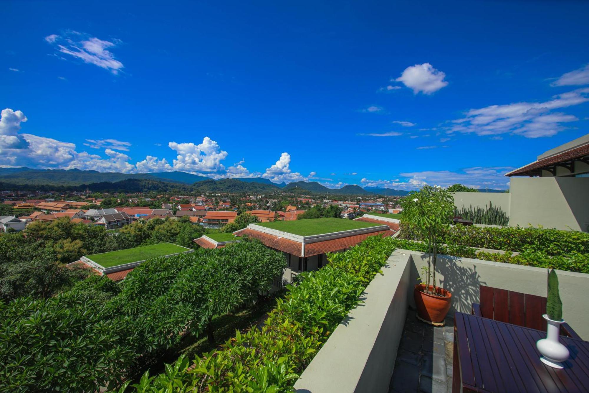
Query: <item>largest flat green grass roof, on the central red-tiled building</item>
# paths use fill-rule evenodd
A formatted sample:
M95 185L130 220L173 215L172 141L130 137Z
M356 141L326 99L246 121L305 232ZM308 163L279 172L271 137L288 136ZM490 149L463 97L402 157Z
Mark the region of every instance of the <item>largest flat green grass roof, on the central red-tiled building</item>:
M352 221L344 218L311 218L309 220L257 222L256 225L299 236L320 235L359 228L376 227L372 222Z

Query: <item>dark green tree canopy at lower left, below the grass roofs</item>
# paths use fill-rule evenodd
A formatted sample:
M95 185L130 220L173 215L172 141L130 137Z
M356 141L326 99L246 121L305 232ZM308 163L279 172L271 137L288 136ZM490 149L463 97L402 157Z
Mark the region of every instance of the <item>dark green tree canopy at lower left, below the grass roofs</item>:
M242 241L147 261L120 293L91 277L49 299L0 302L0 391L117 388L141 355L256 301L285 264L282 253Z

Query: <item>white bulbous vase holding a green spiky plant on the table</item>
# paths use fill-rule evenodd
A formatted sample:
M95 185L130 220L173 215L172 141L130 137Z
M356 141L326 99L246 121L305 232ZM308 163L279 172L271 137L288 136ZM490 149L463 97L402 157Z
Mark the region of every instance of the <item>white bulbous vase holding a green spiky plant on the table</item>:
M548 299L546 313L542 315L547 322L546 338L538 340L536 348L542 355L540 360L545 365L562 368L562 362L568 359L567 347L560 342L560 325L562 319L562 302L558 293L558 277L554 269L548 273Z

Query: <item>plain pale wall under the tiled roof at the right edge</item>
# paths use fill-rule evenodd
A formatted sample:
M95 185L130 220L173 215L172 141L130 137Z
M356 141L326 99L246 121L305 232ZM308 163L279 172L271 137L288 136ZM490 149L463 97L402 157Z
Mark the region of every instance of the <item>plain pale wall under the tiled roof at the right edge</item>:
M509 194L509 225L589 231L589 178L512 178Z

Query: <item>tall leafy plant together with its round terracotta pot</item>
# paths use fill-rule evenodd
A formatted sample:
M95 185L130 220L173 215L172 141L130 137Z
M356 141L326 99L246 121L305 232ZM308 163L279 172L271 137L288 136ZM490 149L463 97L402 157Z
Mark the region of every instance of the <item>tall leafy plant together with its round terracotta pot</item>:
M425 282L416 284L413 299L417 316L423 322L443 326L450 309L452 293L436 285L436 262L442 231L449 227L454 215L454 198L441 186L423 186L402 199L403 219L418 230L428 245L428 267Z

